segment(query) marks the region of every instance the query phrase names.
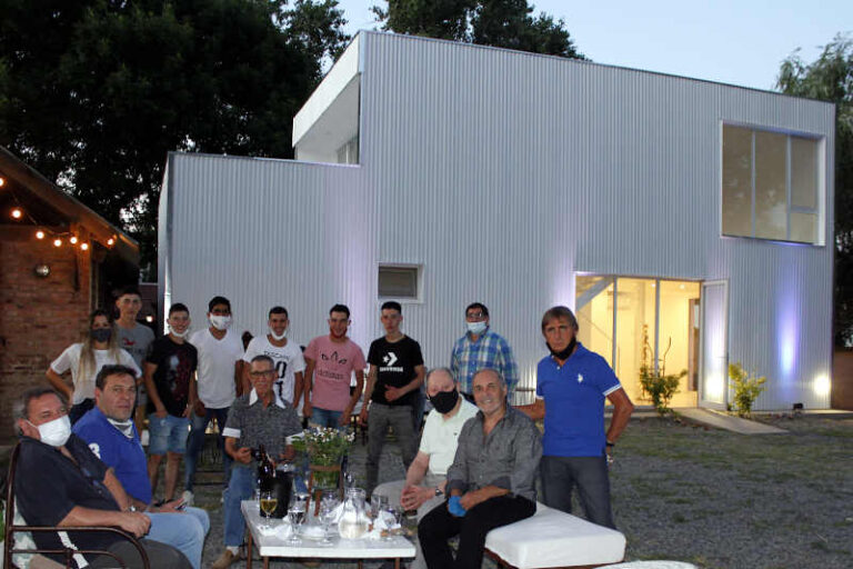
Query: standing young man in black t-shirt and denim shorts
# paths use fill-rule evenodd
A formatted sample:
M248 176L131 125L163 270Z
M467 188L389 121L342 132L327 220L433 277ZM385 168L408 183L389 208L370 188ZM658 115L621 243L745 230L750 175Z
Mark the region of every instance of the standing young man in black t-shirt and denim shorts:
M185 340L190 311L179 303L169 309L169 333L154 340L145 358L148 390L148 477L157 492L160 462L165 455L165 500L174 499L178 470L187 450L190 430L190 380L195 373L199 352Z

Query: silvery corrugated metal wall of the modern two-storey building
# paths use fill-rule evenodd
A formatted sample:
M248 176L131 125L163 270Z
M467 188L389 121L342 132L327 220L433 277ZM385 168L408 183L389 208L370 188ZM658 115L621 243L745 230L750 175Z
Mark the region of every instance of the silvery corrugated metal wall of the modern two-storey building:
M829 407L813 387L831 371L831 248L720 238L720 124L827 136L832 172L831 106L420 38L362 40L360 167L173 158L172 299L193 298L197 327L207 299L225 293L255 333L269 306L285 303L305 343L344 299L367 349L381 335L377 263L419 263L423 302L404 306L404 329L428 366L448 363L464 307L479 300L533 386L539 320L574 305L575 271L727 279L730 360L772 381L759 407Z

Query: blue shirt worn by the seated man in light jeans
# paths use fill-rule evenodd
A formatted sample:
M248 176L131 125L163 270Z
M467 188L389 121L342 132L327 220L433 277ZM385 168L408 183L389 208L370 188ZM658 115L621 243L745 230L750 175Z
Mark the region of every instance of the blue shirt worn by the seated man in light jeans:
M141 502L151 503L148 461L136 426L133 436L128 438L96 407L74 423L73 431L89 443L98 458L112 467L126 492Z

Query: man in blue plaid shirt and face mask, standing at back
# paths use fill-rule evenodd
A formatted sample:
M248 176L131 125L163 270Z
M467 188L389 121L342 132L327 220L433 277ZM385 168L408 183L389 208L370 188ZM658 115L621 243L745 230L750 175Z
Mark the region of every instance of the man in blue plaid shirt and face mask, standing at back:
M500 371L506 380L506 398L512 399L519 381L519 367L512 349L502 336L489 328L489 309L474 302L465 309L468 332L456 340L450 355L450 369L459 381L459 390L469 401L474 400L472 385L474 373L491 368Z

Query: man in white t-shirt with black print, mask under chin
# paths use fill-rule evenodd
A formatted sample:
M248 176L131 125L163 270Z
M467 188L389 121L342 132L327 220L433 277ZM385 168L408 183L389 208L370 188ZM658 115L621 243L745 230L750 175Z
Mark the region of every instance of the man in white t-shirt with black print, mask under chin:
M269 356L275 365L275 382L272 385L275 400L287 401L297 408L302 401L302 372L305 370L305 360L299 346L288 341L288 310L284 307L272 307L267 325L270 328L269 333L252 338L245 348L243 392L252 389L249 381L249 363L252 358Z

